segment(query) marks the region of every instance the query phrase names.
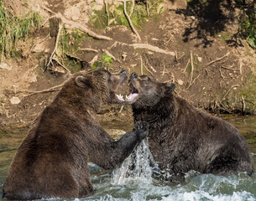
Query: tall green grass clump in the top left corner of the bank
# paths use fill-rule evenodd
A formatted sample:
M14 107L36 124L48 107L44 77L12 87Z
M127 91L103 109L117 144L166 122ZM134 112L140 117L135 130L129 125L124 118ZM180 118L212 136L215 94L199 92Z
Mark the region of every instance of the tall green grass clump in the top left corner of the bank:
M8 15L2 1L0 1L0 59L3 56L15 56L16 45L19 39L26 39L34 28L38 28L42 22L39 13L24 14L23 17L11 17Z

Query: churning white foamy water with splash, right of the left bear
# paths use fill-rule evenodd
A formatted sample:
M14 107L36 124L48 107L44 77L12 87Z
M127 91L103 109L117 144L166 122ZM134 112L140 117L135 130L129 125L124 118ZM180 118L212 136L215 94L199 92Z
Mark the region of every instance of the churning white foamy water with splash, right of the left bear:
M109 174L108 180L97 179L94 195L80 200L256 201L256 175L249 177L246 173L216 176L190 171L185 174L184 183L152 181L148 149L147 142L139 145L136 153L128 157L122 167Z

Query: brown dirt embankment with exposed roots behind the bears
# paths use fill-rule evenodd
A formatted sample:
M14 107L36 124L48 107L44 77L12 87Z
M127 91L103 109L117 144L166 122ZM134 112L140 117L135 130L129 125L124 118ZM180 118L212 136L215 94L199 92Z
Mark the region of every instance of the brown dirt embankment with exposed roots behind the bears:
M236 20L218 29L222 23L202 21L185 1L135 6L132 24L123 2L5 2L13 15L32 8L44 20L32 37L18 44L21 55L4 58L0 65L0 125L33 121L68 75L96 66L175 82L176 95L213 112L256 113L255 52L243 40L241 45L227 43L238 32ZM147 17L134 21L136 8L143 7ZM122 20L126 22L119 25ZM109 26L102 28L104 23ZM122 119L131 111L129 106L110 106L102 109L102 116Z

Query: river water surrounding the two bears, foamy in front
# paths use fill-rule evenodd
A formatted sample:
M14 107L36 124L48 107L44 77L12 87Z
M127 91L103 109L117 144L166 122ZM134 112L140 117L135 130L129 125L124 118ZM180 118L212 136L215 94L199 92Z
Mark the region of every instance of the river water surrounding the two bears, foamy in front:
M231 117L222 116L225 120L236 126L248 141L256 168L256 116ZM106 129L130 130L130 121L102 122ZM2 187L7 176L10 162L19 143L24 139L28 131L24 126L13 126L0 130L0 201L2 199ZM91 181L96 192L88 198L73 198L70 200L255 200L256 201L256 175L248 177L245 173L228 177L212 174L199 174L190 172L186 174L185 182L170 184L154 179L128 179L128 182L116 182L117 175L103 170L97 165L89 163ZM120 178L122 175L120 175ZM122 180L122 179L121 179ZM120 179L118 180L120 181ZM51 198L50 200L61 200Z

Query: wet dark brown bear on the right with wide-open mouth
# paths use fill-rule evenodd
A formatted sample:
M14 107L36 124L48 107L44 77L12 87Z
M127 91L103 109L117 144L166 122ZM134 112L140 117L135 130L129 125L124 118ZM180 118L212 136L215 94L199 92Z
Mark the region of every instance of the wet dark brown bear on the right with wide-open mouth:
M130 76L134 122L149 123L149 149L165 179L177 182L184 173L253 173L248 143L221 118L210 116L173 95L174 84L135 73Z

